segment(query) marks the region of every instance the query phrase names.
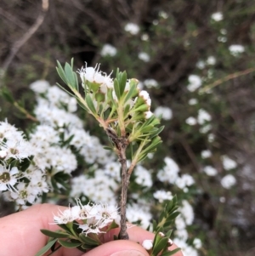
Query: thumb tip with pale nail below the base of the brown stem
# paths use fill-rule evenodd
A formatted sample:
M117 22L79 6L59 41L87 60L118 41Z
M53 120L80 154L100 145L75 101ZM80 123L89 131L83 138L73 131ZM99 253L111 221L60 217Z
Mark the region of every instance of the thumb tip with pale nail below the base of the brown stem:
M106 242L82 256L149 256L144 247L130 240Z

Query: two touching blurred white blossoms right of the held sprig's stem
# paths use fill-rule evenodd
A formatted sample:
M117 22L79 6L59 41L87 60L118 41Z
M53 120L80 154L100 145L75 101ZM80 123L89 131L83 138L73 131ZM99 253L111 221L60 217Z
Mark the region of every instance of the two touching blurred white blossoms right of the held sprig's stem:
M190 174L182 174L178 176L179 168L176 162L170 157L165 157L166 165L157 174L156 177L161 182L177 185L184 192L189 191L190 185L195 184L195 180Z

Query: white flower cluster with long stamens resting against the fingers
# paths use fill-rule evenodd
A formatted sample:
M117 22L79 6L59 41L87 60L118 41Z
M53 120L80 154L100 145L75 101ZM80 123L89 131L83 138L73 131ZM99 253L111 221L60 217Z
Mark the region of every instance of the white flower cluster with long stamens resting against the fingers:
M99 234L105 233L105 227L111 225L113 221L117 225L120 224L120 215L118 208L112 205L101 203L88 203L82 205L77 200L77 206L67 208L63 212L59 210L57 216L54 216L54 223L67 224L76 220L78 222L78 228L82 229L82 233Z

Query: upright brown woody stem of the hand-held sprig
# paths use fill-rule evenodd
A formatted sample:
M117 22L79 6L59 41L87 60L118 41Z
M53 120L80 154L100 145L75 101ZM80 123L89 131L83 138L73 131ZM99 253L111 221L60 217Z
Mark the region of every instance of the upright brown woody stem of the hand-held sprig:
M127 208L127 186L129 181L129 174L127 174L127 157L126 149L128 145L128 139L125 136L118 137L116 132L111 128L106 128L106 134L112 140L113 144L116 146L116 151L119 157L119 162L122 164L122 196L121 196L121 229L119 233L119 238L123 240L128 240L127 234L127 219L126 219L126 208Z

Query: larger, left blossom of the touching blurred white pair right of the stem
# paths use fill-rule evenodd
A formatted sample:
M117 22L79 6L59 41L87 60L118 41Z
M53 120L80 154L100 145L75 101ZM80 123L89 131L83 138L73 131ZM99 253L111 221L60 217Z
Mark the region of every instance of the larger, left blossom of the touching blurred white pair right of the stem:
M168 156L165 157L164 162L166 163L166 165L156 174L156 177L161 182L174 184L174 182L178 178L178 165L176 162L173 161L172 158Z

